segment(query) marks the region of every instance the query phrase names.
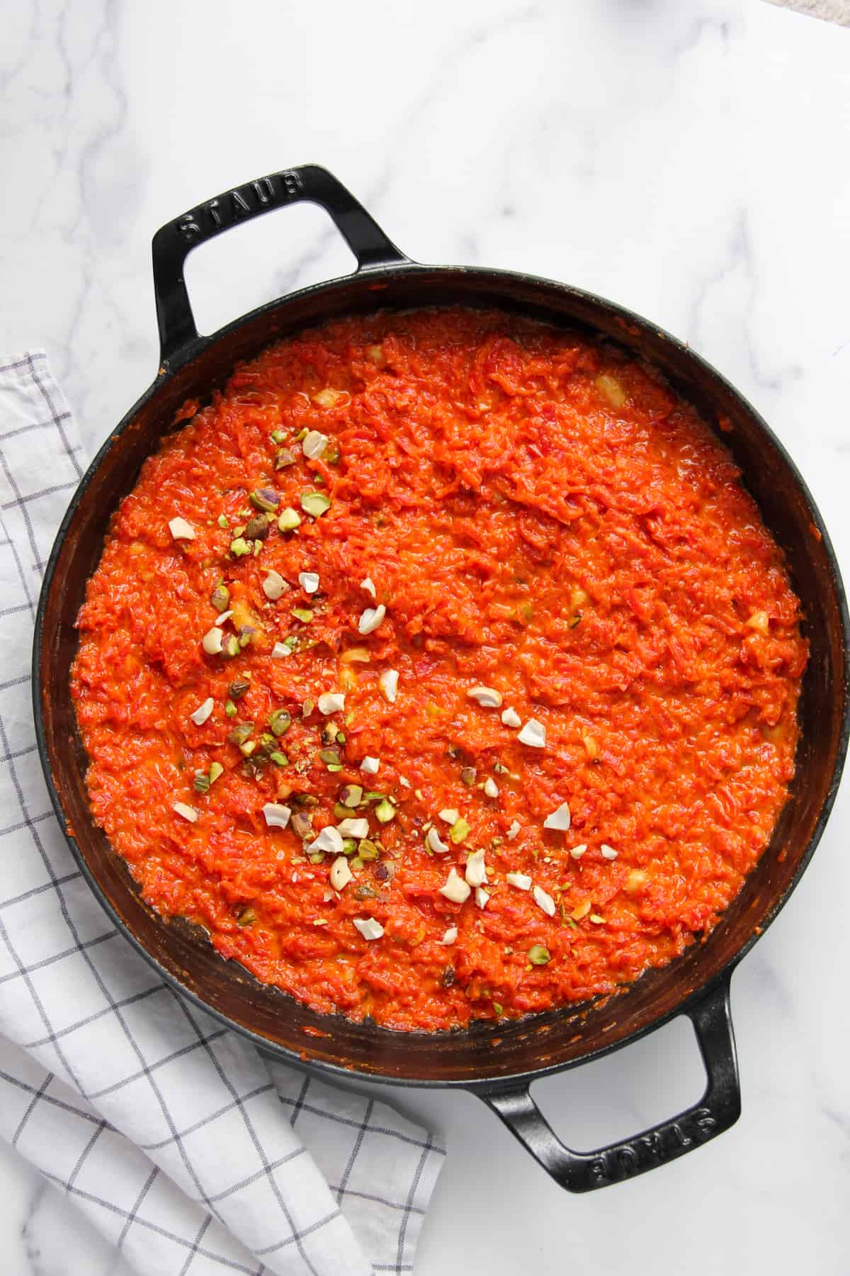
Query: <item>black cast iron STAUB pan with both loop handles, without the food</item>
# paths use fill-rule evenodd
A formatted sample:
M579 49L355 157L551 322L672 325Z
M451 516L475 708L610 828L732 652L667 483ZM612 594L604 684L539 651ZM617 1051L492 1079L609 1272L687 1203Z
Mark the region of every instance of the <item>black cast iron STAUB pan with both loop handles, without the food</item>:
M357 271L261 306L213 337L199 336L184 282L187 253L238 222L301 200L330 213L357 256ZM654 324L548 279L410 262L335 177L312 165L228 190L163 226L153 241L153 273L162 365L150 389L116 426L80 482L47 564L36 624L38 746L56 814L69 829L69 843L92 889L163 977L229 1027L325 1076L470 1090L572 1192L631 1178L714 1138L740 1111L729 1014L731 972L809 863L835 799L847 745L849 629L841 577L821 516L789 456L719 373ZM184 399L206 399L237 360L307 324L378 308L447 302L501 306L603 333L658 365L714 429L723 425L723 441L788 555L805 610L810 660L800 701L802 738L791 798L770 847L705 942L599 1005L519 1022L478 1023L463 1032L399 1034L316 1014L261 985L236 962L223 961L203 938L148 909L89 814L85 754L75 725L69 669L76 649L74 620L85 582L99 560L110 516L134 486L141 462L172 427ZM700 1102L635 1138L589 1154L568 1150L530 1097L530 1083L627 1045L677 1014L691 1018L706 1065L709 1082Z

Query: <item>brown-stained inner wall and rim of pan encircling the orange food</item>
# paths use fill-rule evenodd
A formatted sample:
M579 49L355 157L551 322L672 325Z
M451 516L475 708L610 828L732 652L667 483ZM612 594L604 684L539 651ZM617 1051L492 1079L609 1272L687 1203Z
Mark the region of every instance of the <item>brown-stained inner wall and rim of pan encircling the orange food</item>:
M68 685L76 649L74 619L97 565L110 514L133 487L141 462L169 429L182 401L189 396L204 401L238 359L305 324L377 308L433 304L503 306L601 332L660 366L715 429L723 419L726 427L719 431L720 438L742 466L767 526L786 553L810 642L791 799L771 846L711 935L601 1005L437 1036L394 1034L315 1014L259 984L234 962L224 962L189 928L153 914L89 815L85 754ZM177 371L161 374L113 440L71 507L54 550L52 572L48 568L36 635L42 745L55 794L74 829L75 851L97 893L163 974L208 1009L265 1045L320 1068L469 1085L568 1067L647 1031L716 979L775 916L814 850L846 746L844 595L828 538L786 456L733 388L678 342L609 302L525 276L424 267L368 272L297 293L223 329Z

